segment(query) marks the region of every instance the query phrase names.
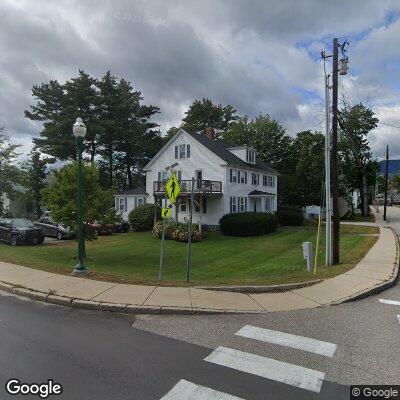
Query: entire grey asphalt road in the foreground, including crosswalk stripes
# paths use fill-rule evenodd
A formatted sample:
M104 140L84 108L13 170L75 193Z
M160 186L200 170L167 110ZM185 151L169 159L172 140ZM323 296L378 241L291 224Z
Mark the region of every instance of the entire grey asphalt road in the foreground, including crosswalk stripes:
M64 392L50 398L68 400L348 399L350 384L399 383L399 322L399 287L311 310L136 319L2 293L0 399L38 398L8 396L10 378L52 378Z

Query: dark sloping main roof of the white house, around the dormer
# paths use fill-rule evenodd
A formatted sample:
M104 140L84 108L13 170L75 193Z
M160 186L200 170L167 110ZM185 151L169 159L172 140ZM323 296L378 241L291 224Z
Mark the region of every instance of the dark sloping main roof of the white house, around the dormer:
M246 161L242 160L228 150L232 149L232 145L225 143L222 140L213 140L201 133L188 133L188 135L196 139L203 146L207 147L208 150L212 151L219 158L222 158L229 165L252 168L263 172L278 174L277 170L259 160L258 157L256 157L255 164L247 163Z

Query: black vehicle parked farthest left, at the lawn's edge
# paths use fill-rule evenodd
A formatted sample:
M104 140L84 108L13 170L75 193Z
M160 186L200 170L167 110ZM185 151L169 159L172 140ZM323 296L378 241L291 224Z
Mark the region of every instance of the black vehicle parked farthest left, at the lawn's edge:
M11 246L19 244L42 244L44 236L32 221L25 218L0 219L0 240Z

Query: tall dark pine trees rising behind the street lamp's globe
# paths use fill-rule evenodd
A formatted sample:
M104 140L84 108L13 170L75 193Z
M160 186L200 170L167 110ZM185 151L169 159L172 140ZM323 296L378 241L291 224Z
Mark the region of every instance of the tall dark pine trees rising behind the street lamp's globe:
M32 95L36 101L25 116L43 123L35 148L59 160L75 160L72 125L82 117L87 126L85 152L92 163L103 159L108 164L106 187L114 185L119 169L125 175L119 183L132 188L133 175L142 179L143 166L161 146L158 125L150 121L158 107L141 104L141 93L110 71L101 79L79 71L64 84L52 80L33 86Z

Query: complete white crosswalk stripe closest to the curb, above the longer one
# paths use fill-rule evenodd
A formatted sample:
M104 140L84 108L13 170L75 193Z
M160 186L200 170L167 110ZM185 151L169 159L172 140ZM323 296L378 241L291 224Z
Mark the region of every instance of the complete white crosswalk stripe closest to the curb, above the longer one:
M323 342L303 336L292 335L286 332L272 331L270 329L258 328L256 326L245 325L235 335L249 339L261 340L281 346L292 347L294 349L305 350L327 357L333 357L337 345L334 343Z

